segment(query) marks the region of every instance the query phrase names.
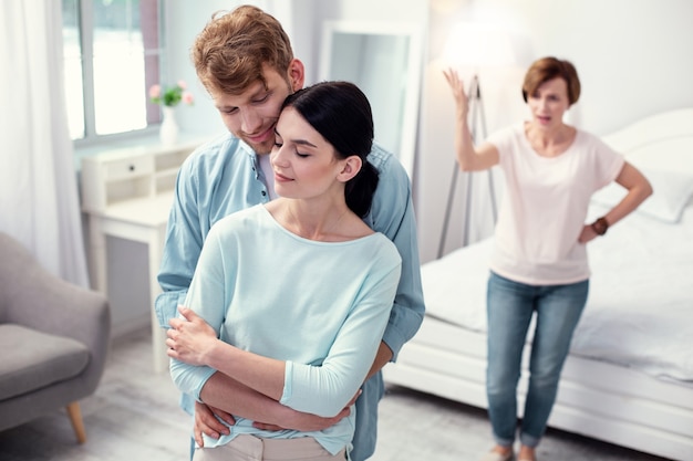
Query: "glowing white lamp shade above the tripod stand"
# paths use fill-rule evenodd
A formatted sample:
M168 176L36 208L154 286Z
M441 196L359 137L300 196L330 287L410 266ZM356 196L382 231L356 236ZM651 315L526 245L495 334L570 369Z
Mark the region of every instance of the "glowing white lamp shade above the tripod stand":
M510 34L498 25L461 22L453 27L443 61L453 66L488 67L517 63Z

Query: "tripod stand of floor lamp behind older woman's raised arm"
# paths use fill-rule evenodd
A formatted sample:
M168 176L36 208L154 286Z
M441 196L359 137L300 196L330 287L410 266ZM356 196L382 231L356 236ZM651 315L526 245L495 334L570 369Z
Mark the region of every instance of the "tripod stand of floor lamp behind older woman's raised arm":
M472 142L476 145L478 140L485 139L487 136L486 132L486 114L484 113L484 103L482 101L482 87L479 85L478 75L474 75L472 82L469 83L469 90L467 91L467 96L469 101L469 109L467 123L469 124L469 132L472 134ZM482 133L480 138L478 137L479 132L478 127L480 125ZM485 171L488 178L488 191L490 197L490 207L492 214L494 218L494 222L496 222L496 218L498 216L497 206L496 206L496 189L494 187L494 175L490 169ZM465 218L463 221L463 245L467 245L469 243L469 226L472 222L472 217L469 214L469 210L472 209L472 190L474 186L474 176L478 175L477 172L467 172L465 176L467 178L467 188L465 195ZM455 201L455 189L457 186L457 178L459 176L459 167L457 161L453 165L453 178L451 180L449 189L447 191L447 205L445 206L445 218L443 221L443 230L441 232L441 240L438 244L438 258L443 256L445 252L445 242L447 240L447 230L449 227L449 219L453 212L453 203Z

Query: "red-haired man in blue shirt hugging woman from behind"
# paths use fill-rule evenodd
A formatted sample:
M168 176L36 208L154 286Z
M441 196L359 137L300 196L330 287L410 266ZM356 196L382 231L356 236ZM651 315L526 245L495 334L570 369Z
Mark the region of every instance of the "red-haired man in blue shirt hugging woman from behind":
M198 148L178 175L158 276L164 290L156 300L162 327L168 327L185 300L211 226L276 197L268 155L276 139L275 126L285 98L304 83L303 64L293 57L281 24L255 7L215 14L197 36L192 56L230 133ZM377 402L384 391L381 368L414 336L424 314L408 177L397 159L376 145L369 161L377 169L380 181L363 220L394 242L402 258L402 276L383 339L356 400L350 454L355 461L368 459L375 448ZM269 290L272 274L265 276ZM348 409L333 418L300 413L220 373L206 381L200 400L183 396L182 402L186 411L195 412L194 437L200 444L203 432L215 438L228 431L215 415L231 425L236 415L265 429L309 431L331 427L349 413Z

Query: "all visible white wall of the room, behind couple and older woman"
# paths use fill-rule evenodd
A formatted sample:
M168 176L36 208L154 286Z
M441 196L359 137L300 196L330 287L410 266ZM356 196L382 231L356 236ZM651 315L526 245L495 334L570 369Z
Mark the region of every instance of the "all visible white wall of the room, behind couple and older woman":
M693 1L690 0L167 0L172 53L165 69L172 78L185 78L197 96L194 107L179 111L182 129L217 133L219 116L197 78L189 60L195 35L217 10L254 3L272 12L291 36L294 54L307 69L307 83L318 78L323 20L422 21L428 30L428 61L424 69L415 207L422 260L437 253L448 181L454 168L454 105L436 61L447 31L456 21L505 24L525 35L523 67L482 70L488 129L525 115L519 86L524 69L536 57L555 54L571 60L580 74L583 94L571 121L596 134L606 134L642 116L693 106ZM427 28L426 28L427 25ZM466 70L470 74L470 70ZM486 177L475 181L484 193ZM459 181L461 186L464 181ZM461 243L463 188L455 197L448 248ZM474 238L490 231L488 203L475 208ZM148 321L152 308L146 292L147 269L137 244L113 242L111 286L123 287L112 301L116 317ZM117 318L114 318L117 322Z

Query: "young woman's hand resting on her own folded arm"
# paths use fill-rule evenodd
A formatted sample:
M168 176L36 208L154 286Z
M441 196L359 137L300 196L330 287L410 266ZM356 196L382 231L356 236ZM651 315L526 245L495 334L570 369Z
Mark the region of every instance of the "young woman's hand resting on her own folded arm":
M188 365L207 365L206 356L217 339L217 333L207 322L185 306L178 306L185 318L172 318L166 331L168 357Z

